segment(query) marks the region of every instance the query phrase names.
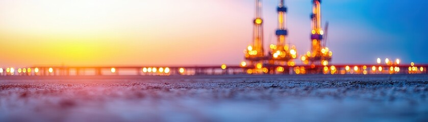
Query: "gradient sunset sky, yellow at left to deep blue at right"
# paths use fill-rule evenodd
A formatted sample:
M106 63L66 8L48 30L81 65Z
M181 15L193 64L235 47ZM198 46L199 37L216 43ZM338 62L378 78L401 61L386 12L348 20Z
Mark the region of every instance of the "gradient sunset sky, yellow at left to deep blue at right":
M264 1L265 46L278 1ZM310 49L311 1L286 1L288 42ZM428 1L325 0L332 63L428 63ZM0 0L0 67L238 65L254 1Z

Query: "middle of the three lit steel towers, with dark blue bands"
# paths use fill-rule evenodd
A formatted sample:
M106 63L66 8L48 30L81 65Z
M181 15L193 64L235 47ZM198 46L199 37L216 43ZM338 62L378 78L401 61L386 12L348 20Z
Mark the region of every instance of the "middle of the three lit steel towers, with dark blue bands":
M284 0L280 0L278 4L278 29L275 32L276 37L278 38L276 45L271 44L270 47L270 63L274 65L287 65L294 66L294 63L291 64L291 61L297 57L297 50L295 46L289 47L287 44L287 7L284 5Z

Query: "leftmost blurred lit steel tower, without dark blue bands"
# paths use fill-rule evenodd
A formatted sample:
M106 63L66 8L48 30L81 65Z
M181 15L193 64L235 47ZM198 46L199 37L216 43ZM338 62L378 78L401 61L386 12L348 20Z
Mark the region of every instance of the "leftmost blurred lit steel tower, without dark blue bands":
M263 49L263 19L262 19L262 1L256 0L255 19L253 28L253 42L248 45L245 52L245 59L248 60L249 66L263 64L266 60Z

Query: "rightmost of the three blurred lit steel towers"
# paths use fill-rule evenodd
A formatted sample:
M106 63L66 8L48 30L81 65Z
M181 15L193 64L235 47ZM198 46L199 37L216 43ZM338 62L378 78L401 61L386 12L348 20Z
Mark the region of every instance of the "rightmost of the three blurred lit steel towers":
M332 59L332 51L325 47L324 31L321 28L321 0L313 0L311 14L311 51L301 57L304 64L326 66Z

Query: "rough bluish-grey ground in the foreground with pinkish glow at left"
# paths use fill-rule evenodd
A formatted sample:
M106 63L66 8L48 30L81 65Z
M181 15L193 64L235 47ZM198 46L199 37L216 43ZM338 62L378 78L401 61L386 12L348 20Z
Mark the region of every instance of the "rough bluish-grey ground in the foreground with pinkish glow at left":
M428 121L428 75L0 77L0 121Z

